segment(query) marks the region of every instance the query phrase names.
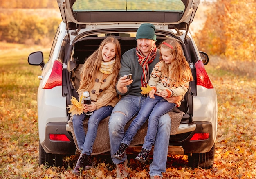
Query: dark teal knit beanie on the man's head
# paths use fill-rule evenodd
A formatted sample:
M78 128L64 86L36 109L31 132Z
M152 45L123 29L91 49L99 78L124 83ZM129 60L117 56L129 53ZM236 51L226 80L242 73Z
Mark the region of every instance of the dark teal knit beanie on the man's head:
M150 23L141 24L136 33L136 40L137 39L151 39L157 41L155 26Z

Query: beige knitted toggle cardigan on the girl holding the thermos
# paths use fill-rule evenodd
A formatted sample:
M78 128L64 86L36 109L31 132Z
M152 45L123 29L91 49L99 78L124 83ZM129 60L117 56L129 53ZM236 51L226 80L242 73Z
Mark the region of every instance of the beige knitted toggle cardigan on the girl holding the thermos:
M114 79L114 74L103 74L100 71L97 73L97 77L94 79L95 83L92 89L89 90L91 101L94 102L97 109L103 106L112 106L114 107L117 102L117 92L115 86L112 85ZM81 89L79 92L80 96L83 96L85 89Z

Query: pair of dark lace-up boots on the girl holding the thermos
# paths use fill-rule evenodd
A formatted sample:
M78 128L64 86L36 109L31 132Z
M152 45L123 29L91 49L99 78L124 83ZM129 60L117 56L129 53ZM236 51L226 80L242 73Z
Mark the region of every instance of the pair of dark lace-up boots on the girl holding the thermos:
M93 168L94 165L95 162L92 160L92 155L86 155L81 153L76 162L74 170L72 170L72 173L74 173L75 175L81 175L83 170Z

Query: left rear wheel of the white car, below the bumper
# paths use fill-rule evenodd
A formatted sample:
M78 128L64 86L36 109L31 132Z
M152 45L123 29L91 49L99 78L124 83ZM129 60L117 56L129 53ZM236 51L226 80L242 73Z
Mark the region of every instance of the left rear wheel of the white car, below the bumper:
M46 153L41 143L39 142L39 165L45 164L47 166L62 166L63 155Z

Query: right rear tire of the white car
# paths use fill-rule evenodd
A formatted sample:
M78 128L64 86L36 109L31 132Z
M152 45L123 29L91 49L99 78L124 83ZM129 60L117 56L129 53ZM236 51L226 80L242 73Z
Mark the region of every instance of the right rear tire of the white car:
M189 166L191 168L209 169L213 167L214 163L215 144L209 152L206 153L192 153L188 155Z

